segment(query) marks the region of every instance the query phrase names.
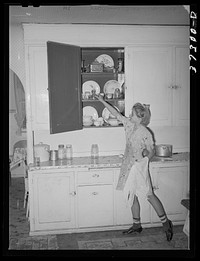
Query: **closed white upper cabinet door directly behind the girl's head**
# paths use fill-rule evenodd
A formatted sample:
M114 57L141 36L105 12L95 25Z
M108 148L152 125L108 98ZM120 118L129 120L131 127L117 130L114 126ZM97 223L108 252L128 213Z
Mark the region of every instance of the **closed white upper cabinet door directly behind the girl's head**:
M136 102L150 104L151 125L172 124L172 48L128 47L129 110Z

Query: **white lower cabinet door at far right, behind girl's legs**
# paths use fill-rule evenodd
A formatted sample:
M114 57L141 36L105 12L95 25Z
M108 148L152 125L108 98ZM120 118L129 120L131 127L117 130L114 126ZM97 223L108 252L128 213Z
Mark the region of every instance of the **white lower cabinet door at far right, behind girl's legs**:
M152 170L155 194L161 200L166 214L172 221L185 221L187 210L181 200L188 198L188 167L159 167ZM151 209L152 222L160 222L154 209Z

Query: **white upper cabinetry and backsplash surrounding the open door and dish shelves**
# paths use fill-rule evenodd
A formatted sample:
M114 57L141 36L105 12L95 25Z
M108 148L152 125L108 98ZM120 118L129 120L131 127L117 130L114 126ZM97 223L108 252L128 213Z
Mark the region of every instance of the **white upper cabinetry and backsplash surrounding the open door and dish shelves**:
M74 156L90 155L92 143L98 143L100 155L120 154L125 148L122 127L87 128L50 135L47 41L81 47L124 47L126 115L136 99L150 104L150 128L156 141L173 144L175 152L189 151L187 26L24 24L23 29L28 163L33 162L33 131L35 144L44 142L57 149L58 144L71 143ZM170 84L181 88L170 89Z

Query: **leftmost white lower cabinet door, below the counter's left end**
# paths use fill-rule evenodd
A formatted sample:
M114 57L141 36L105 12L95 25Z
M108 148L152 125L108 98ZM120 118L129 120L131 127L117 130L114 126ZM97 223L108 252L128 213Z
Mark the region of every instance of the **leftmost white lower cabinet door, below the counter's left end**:
M30 230L75 227L74 172L30 175Z

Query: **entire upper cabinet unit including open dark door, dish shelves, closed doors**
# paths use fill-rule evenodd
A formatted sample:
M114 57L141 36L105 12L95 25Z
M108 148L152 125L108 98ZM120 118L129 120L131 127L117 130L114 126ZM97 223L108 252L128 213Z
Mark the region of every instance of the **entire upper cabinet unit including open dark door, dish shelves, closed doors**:
M85 111L95 110L98 117L104 111L90 97L91 89L113 92L117 85L121 93L125 90L124 96L106 99L123 114L141 102L150 104L152 126L188 124L188 27L24 24L23 28L27 133L82 129ZM96 60L103 61L103 68Z

